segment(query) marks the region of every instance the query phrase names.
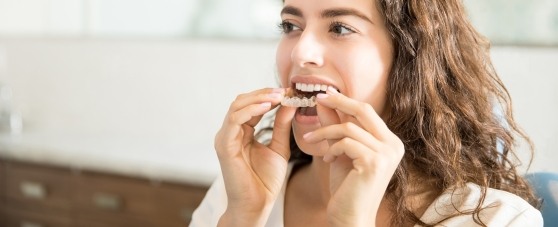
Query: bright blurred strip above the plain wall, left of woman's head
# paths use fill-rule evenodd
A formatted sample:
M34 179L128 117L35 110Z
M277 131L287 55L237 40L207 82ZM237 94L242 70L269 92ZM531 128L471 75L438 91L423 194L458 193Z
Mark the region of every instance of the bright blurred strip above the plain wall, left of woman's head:
M0 0L0 35L271 38L281 7L277 0Z

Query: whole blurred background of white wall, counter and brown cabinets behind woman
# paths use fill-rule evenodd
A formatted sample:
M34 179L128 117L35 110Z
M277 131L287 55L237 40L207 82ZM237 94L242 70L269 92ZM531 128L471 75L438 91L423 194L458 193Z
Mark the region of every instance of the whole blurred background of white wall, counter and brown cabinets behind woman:
M528 171L558 172L558 2L465 4L535 143ZM187 222L219 173L213 137L230 102L276 86L281 7L0 0L0 225Z

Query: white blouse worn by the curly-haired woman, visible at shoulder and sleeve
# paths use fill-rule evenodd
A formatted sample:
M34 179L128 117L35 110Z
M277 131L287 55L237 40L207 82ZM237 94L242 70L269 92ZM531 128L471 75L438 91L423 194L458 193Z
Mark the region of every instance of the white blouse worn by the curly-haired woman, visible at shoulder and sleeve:
M293 165L289 165L287 176L290 176ZM285 180L285 182L288 182ZM286 183L275 202L265 227L282 227L283 207L285 202ZM452 196L453 193L453 196ZM543 226L541 213L521 197L512 193L489 188L486 192L481 220L487 226ZM476 206L480 199L480 186L468 183L458 190L448 190L436 198L420 218L425 223L436 223L454 214L457 210L464 211ZM453 203L452 203L453 201ZM227 194L222 176L219 176L207 191L200 206L194 211L190 227L217 226L219 218L227 208ZM440 223L442 226L478 226L472 215L452 217Z

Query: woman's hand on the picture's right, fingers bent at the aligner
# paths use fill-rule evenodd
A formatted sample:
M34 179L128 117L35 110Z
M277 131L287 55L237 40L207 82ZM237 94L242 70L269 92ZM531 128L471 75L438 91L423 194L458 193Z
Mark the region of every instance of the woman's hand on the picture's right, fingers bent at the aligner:
M386 188L405 152L368 103L334 90L317 98L322 127L304 135L309 143L327 140L330 164L327 212L332 226L374 226ZM341 122L338 112L350 120Z

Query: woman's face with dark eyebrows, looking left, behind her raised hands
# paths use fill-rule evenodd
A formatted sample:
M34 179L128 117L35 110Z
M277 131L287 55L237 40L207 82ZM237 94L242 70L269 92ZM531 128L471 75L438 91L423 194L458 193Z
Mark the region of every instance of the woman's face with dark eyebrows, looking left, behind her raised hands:
M283 87L333 86L369 103L383 116L393 44L373 0L285 0L277 67ZM308 87L308 86L306 86ZM315 86L314 86L315 87ZM358 122L337 112L341 122ZM298 146L322 155L327 143L306 144L302 135L320 127L316 107L299 108L293 120Z

